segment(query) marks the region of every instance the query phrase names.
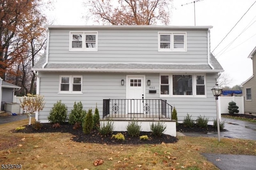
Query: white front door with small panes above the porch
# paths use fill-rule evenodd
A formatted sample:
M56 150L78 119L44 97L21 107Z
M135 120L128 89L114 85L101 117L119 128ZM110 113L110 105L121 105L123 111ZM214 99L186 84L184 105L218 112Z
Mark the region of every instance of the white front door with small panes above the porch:
M144 97L144 77L128 76L126 99L134 99L134 100L128 100L128 103L127 103L128 113L143 114L142 97ZM136 100L136 99L139 99L139 100Z

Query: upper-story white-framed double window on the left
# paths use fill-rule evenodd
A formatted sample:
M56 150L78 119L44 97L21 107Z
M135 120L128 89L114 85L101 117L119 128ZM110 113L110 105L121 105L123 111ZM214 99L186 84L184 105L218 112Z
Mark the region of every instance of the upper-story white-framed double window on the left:
M98 51L98 32L70 32L70 51Z

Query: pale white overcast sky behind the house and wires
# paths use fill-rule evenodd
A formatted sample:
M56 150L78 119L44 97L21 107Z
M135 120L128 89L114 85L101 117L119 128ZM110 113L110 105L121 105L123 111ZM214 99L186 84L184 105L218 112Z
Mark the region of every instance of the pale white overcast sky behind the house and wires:
M232 80L230 87L252 76L252 60L248 56L256 47L256 3L252 6L255 1L197 0L194 4L194 0L173 0L170 26L194 26L194 12L196 26L213 26L211 52ZM54 25L98 25L82 18L86 14L82 2L86 0L54 0L54 9L47 12L49 20Z

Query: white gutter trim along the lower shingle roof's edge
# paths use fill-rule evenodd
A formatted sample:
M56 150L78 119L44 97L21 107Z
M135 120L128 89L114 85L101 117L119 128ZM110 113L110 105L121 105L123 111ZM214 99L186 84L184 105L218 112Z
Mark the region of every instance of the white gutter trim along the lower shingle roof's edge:
M216 73L216 72L223 72L224 70L202 70L202 69L198 69L198 70L191 70L191 69L184 69L184 70L180 70L180 69L60 69L60 68L44 68L44 69L32 69L32 70L36 70L36 71L55 71L55 72L65 72L65 71L75 71L75 72L118 72L118 73L169 73L169 72L190 72L190 73L198 73L198 72L202 72L202 73Z

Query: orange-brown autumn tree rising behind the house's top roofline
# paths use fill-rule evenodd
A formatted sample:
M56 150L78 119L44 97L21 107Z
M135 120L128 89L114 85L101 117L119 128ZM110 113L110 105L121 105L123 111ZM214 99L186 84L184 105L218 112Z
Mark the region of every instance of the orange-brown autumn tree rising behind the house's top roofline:
M168 25L172 0L89 0L85 18L112 25Z

